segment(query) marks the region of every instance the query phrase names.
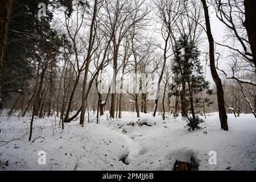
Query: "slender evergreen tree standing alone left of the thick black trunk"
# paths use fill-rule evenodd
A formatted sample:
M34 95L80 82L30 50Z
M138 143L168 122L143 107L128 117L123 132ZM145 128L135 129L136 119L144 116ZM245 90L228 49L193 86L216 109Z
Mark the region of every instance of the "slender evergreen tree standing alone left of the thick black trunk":
M205 81L204 70L200 63L199 49L189 41L187 35L181 36L174 47L174 62L172 71L174 85L181 84L179 94L181 97L181 111L183 117L189 121L189 130L199 129L199 123L203 122L195 111L195 102L198 101L197 94L209 90L209 82ZM188 114L188 107L191 115Z

